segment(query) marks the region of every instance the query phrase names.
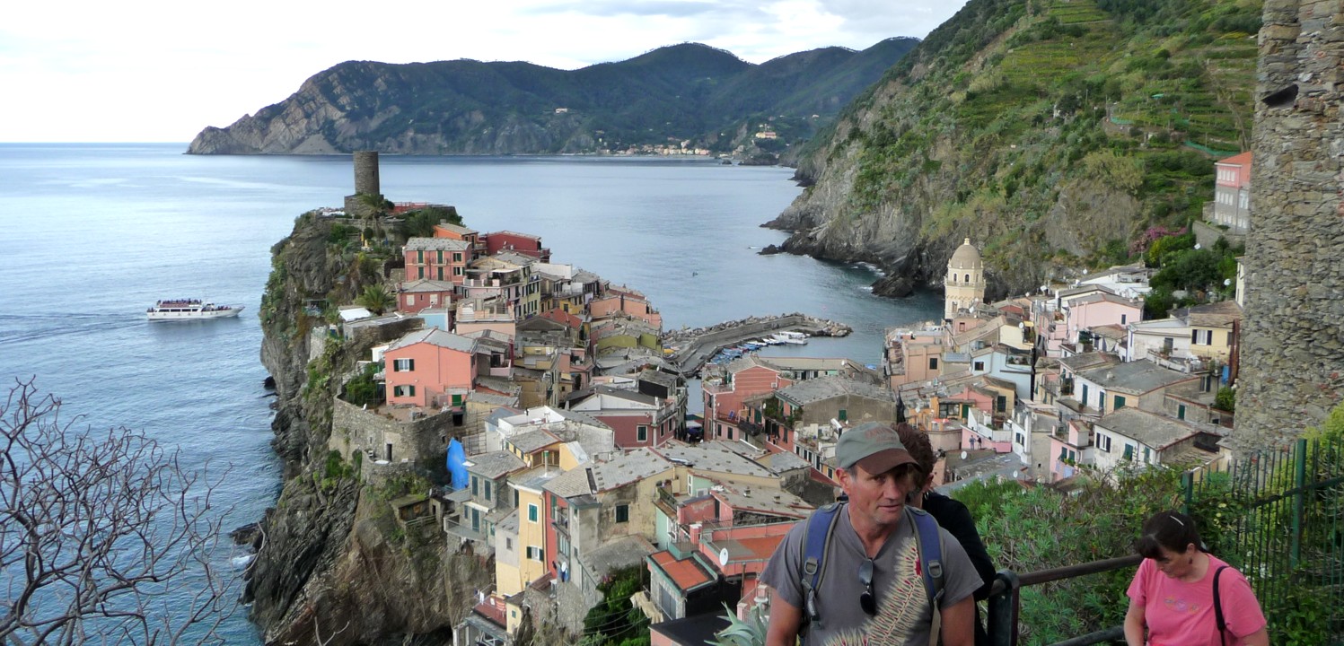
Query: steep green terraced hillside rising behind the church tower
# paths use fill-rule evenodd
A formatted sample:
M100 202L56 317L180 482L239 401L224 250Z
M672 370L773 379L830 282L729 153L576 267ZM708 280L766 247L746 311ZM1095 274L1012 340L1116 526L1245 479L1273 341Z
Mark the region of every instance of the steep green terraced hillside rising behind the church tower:
M962 238L997 294L1121 262L1250 138L1258 0L970 0L809 144L786 248L903 291Z

